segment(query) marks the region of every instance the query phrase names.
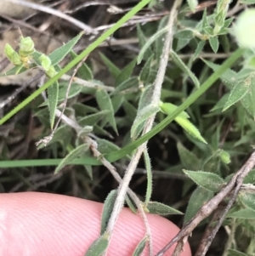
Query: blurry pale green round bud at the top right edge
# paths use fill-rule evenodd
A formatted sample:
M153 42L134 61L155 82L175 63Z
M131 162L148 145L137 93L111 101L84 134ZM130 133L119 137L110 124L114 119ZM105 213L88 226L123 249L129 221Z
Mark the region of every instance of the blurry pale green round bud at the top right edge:
M233 34L241 48L255 48L255 9L246 9L237 17Z

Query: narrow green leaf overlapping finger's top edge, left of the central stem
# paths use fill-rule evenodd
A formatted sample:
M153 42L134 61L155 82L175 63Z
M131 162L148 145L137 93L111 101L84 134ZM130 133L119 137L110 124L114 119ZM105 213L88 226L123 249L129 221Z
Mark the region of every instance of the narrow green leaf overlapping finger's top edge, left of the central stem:
M117 191L111 191L105 199L103 213L101 217L101 231L100 235L102 236L105 233L106 227L108 225L111 213L116 201Z

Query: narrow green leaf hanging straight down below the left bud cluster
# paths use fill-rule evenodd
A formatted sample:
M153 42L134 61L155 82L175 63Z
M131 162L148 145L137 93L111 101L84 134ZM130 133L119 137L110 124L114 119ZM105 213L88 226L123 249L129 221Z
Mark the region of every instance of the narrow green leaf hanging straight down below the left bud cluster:
M50 128L54 128L55 113L59 99L59 82L56 81L48 88L48 111L50 119Z

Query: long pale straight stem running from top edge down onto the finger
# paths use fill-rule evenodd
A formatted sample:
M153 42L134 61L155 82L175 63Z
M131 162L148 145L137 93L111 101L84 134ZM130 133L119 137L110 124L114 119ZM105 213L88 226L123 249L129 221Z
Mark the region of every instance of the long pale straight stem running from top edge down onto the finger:
M160 66L159 66L159 71L157 72L156 80L154 82L154 88L153 88L154 91L153 91L152 100L151 100L151 102L153 102L155 105L158 105L158 103L160 101L161 84L164 80L164 76L165 76L165 72L166 72L166 68L167 68L168 56L169 56L169 52L170 52L170 49L172 48L172 43L173 43L173 23L174 23L175 17L177 16L178 6L181 2L182 2L182 0L175 1L175 3L173 4L173 9L169 15L169 20L168 20L168 24L167 24L167 27L169 27L169 30L167 31L166 41L164 43L164 47L162 50L161 62L160 62ZM150 129L152 128L155 116L156 115L153 115L146 122L143 134L146 134L150 131ZM113 232L114 226L116 224L116 220L119 216L119 213L122 211L129 182L133 177L133 173L135 172L135 169L138 165L139 158L143 154L145 148L146 148L146 143L139 146L139 148L135 152L131 162L129 163L129 165L127 167L127 171L126 171L126 174L124 175L124 178L122 179L122 183L118 188L116 202L115 202L114 208L112 210L111 218L109 219L107 229L106 229L107 232L109 233L110 238L111 238L111 234Z

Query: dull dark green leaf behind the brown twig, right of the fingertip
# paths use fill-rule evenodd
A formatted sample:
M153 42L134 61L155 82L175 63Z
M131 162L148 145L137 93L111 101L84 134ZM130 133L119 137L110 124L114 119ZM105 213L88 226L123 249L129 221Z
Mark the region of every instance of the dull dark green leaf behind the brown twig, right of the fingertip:
M207 191L201 187L197 187L190 196L190 201L184 215L184 225L192 219L197 211L210 199L212 199L212 191Z

